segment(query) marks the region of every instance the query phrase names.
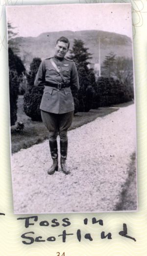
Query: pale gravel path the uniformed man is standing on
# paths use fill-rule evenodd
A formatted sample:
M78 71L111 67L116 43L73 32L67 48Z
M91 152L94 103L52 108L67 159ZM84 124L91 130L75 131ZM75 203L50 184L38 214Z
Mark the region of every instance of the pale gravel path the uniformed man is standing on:
M48 140L13 154L14 212L113 211L135 151L134 109L134 104L120 108L69 131L69 175L61 169L47 174Z

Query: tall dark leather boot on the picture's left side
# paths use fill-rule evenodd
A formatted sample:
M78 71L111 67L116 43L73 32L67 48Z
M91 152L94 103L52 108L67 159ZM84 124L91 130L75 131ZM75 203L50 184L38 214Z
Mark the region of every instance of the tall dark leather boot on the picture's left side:
M58 171L58 148L57 141L49 141L50 153L53 163L49 168L48 174L54 174L55 171Z

